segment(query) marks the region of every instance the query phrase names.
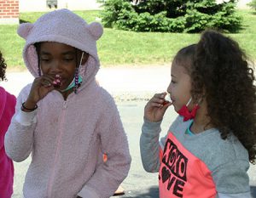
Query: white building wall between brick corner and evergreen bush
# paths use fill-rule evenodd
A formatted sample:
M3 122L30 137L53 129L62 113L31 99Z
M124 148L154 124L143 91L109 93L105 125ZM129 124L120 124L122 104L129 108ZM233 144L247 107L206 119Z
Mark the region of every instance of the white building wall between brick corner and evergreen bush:
M68 8L71 10L100 9L100 3L96 0L57 0L57 8ZM46 4L46 0L20 0L20 12L44 12L53 10Z

